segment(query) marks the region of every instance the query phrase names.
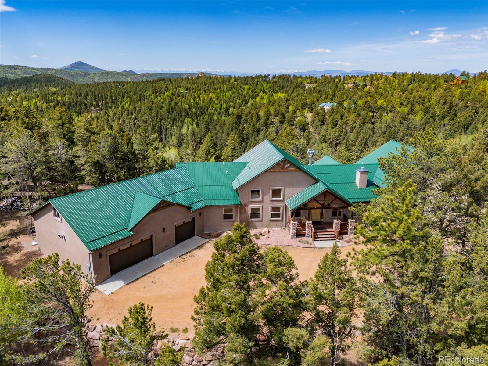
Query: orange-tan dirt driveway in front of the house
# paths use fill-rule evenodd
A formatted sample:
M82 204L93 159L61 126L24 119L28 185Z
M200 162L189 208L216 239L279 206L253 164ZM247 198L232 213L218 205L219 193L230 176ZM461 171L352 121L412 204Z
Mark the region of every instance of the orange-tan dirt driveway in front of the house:
M357 249L361 246L355 245ZM351 248L342 248L342 255L346 255ZM295 260L301 280L313 276L320 259L330 251L330 248L293 246L282 249ZM205 285L205 264L210 260L212 252L213 242L207 242L108 296L97 292L93 296L93 308L88 315L95 324L120 324L122 317L127 314L127 308L142 302L154 306L153 321L158 328L171 333L170 327L180 330L187 327L188 335L193 336L193 296Z

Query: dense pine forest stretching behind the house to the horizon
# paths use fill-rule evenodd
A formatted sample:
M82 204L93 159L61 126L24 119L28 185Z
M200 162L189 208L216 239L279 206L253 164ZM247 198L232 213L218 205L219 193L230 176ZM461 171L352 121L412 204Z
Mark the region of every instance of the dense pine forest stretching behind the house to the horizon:
M303 161L306 149L316 148L316 159L330 154L351 163L429 127L466 151L488 127L488 74L456 86L448 83L453 78L20 79L0 92L2 189L8 195L33 184L45 199L79 183L117 182L178 161L231 161L266 138ZM322 102L337 105L324 111L317 108Z

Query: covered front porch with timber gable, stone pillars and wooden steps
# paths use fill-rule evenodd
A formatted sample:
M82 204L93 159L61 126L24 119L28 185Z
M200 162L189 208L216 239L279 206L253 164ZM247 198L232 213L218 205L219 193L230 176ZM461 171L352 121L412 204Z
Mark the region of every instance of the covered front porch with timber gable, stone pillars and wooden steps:
M302 194L302 197L286 202L290 209L290 216L287 218L290 238L304 235L305 238L320 241L337 240L341 235L354 235L356 221L349 210L352 204L319 184L310 186L309 192Z

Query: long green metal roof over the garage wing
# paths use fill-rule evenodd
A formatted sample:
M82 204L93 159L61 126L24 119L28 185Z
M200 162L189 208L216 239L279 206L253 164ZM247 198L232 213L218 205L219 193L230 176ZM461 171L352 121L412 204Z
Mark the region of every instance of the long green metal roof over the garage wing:
M141 195L136 197L136 192L153 196L154 199ZM135 198L137 201L134 204ZM156 198L181 204L192 211L204 206L202 196L184 168L164 170L56 197L49 202L61 213L62 219L83 244L89 250L95 250L132 235L129 226L135 225L137 218L156 202Z

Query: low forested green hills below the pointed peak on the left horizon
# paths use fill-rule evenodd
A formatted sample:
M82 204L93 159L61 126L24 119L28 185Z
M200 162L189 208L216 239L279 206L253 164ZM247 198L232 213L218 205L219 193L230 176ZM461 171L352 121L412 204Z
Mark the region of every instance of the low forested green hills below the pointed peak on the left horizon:
M18 79L30 75L50 74L59 76L60 78L71 80L79 84L99 81L144 81L158 78L184 78L195 77L196 72L165 72L165 73L130 73L117 71L103 71L103 72L85 72L85 71L69 71L65 69L51 69L41 67L28 67L20 65L0 65L0 77L8 79ZM220 76L206 73L205 75ZM227 75L226 75L227 76Z

